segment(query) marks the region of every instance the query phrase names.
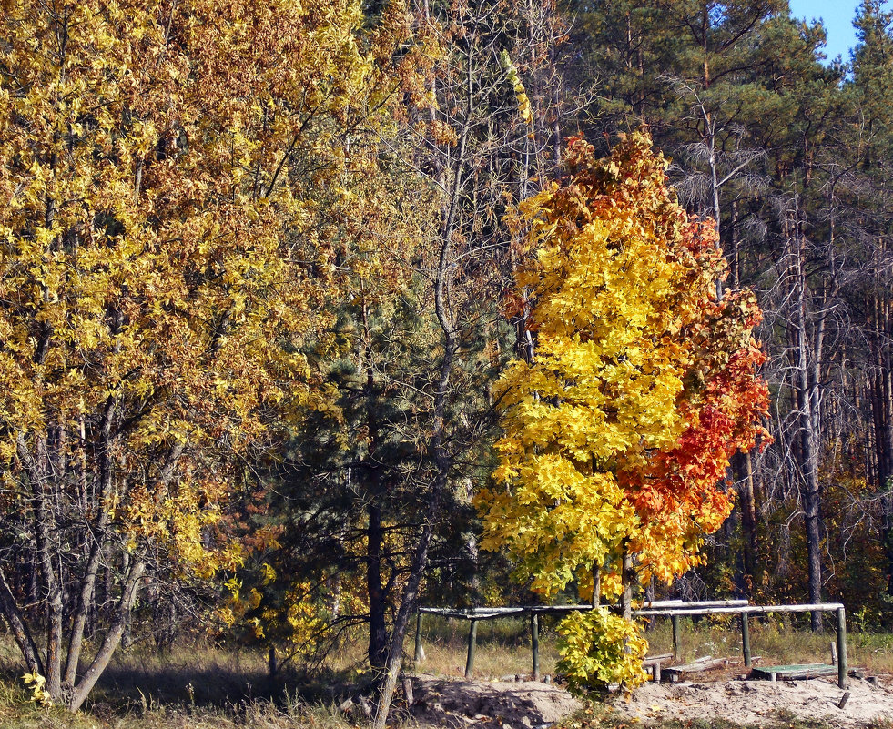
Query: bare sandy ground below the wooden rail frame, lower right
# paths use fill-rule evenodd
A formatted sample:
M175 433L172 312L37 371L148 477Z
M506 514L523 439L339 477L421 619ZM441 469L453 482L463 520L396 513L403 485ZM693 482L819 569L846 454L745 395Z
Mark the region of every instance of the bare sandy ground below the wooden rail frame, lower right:
M889 678L879 685L852 678L844 692L836 681L745 681L728 673L709 682L648 683L631 697L616 697L615 709L646 722L663 716L680 720L721 716L742 724L770 723L779 710L802 719L825 719L840 729L855 729L872 719L893 719ZM543 727L573 714L581 704L563 688L540 682L484 682L443 679L420 674L413 678L411 717L423 727L527 729Z

